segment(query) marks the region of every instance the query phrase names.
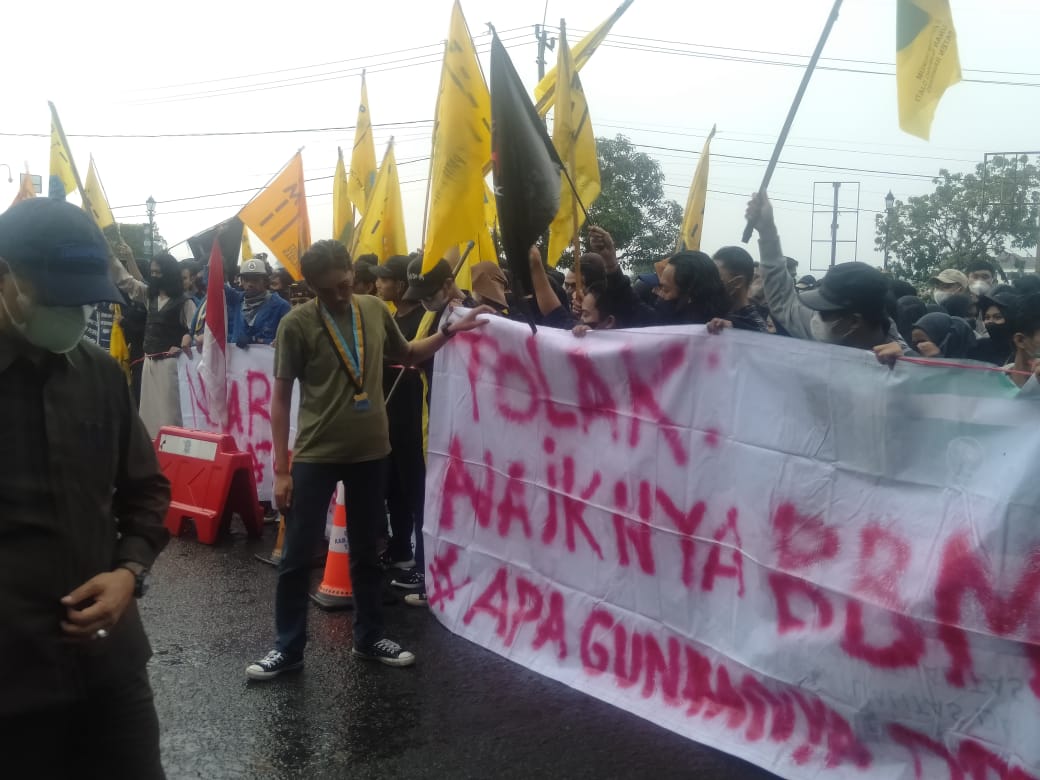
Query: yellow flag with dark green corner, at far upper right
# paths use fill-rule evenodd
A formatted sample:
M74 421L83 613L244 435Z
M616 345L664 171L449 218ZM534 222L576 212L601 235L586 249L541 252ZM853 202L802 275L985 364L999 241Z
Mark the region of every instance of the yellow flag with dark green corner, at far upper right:
M925 140L946 88L961 80L950 0L898 0L895 83L900 127Z

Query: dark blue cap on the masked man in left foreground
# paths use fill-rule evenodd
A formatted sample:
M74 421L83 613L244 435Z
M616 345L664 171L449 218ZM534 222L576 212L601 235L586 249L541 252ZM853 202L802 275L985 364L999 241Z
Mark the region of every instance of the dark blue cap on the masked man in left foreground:
M108 254L94 220L71 203L33 198L0 214L0 257L32 283L41 306L123 303Z

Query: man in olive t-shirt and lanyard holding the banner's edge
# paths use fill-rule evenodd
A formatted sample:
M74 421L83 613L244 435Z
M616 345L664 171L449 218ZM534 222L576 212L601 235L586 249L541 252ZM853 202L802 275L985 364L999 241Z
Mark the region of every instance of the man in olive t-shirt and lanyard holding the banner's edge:
M415 655L383 633L376 542L386 524L386 465L390 453L383 399L384 357L406 365L431 359L456 333L478 328L474 309L428 338L409 343L386 305L355 295L354 268L338 241L318 241L301 258L316 298L289 312L278 329L271 434L275 500L288 510L275 594L275 649L246 667L256 680L300 669L307 644L310 558L324 530L329 499L342 482L350 548L355 622L353 654L392 667ZM296 441L289 461L292 385L300 382Z

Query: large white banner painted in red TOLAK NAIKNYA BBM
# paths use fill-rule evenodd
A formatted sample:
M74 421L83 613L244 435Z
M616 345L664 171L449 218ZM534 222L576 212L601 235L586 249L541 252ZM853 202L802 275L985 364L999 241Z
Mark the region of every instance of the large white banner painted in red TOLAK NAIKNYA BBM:
M1040 777L1040 406L739 331L438 357L452 631L786 778Z

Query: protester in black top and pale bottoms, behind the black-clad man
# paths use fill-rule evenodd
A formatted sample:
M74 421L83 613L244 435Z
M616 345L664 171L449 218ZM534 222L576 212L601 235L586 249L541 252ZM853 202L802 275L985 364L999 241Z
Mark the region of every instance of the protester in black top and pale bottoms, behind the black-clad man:
M129 262L134 262L132 255ZM109 270L116 286L148 309L145 321L145 364L141 371L140 416L155 439L164 425L181 424L177 356L191 344L196 304L184 293L181 268L168 253L152 260L148 284L134 279L114 256Z

